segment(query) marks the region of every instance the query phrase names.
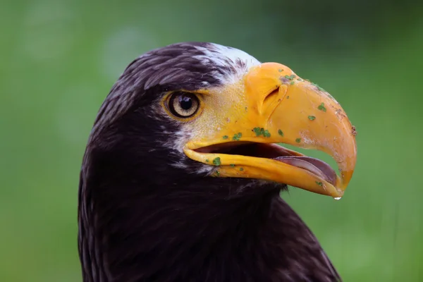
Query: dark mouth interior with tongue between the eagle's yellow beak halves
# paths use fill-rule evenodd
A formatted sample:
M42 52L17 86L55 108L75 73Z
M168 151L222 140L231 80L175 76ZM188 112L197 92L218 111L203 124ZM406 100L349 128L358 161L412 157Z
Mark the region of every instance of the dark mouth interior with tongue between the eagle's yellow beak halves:
M320 159L307 157L298 152L293 152L285 147L276 144L255 143L255 142L226 142L216 145L209 145L195 149L200 153L233 154L245 157L257 157L274 159L290 166L302 168L322 178L332 185L336 184L336 172L333 168Z

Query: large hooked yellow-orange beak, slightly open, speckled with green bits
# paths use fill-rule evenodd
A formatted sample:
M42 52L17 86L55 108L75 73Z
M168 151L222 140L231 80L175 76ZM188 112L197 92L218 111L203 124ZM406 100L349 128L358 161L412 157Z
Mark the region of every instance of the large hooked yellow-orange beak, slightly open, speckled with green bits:
M213 176L257 178L342 197L353 176L355 129L330 94L287 66L263 63L243 81L226 86L216 104L215 130L193 137L185 154L216 166ZM207 110L207 109L206 109ZM274 143L331 155L340 176L324 161Z

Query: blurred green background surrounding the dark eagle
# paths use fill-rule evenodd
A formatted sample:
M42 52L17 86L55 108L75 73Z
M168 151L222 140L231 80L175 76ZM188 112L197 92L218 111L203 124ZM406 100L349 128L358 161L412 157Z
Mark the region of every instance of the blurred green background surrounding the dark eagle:
M423 281L423 6L407 1L1 1L0 281L81 281L78 173L125 66L183 41L317 82L357 127L345 197L284 195L345 281Z

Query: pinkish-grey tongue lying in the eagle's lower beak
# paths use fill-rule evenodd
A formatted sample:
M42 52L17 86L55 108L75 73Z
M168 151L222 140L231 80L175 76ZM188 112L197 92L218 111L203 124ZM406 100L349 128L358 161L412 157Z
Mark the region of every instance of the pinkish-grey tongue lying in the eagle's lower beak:
M333 171L329 164L326 164L324 161L319 159L314 159L312 157L298 157L298 156L286 156L286 157L276 157L274 158L277 161L282 161L285 164L290 166L297 166L299 168L304 168L311 173L316 174L317 176L324 178L324 180L335 185L336 184L336 172Z

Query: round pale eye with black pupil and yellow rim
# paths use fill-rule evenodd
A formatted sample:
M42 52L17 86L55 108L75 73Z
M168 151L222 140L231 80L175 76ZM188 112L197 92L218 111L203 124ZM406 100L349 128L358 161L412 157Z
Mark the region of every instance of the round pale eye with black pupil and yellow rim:
M174 92L168 100L168 109L178 118L189 118L197 113L200 101L197 96L189 92Z

